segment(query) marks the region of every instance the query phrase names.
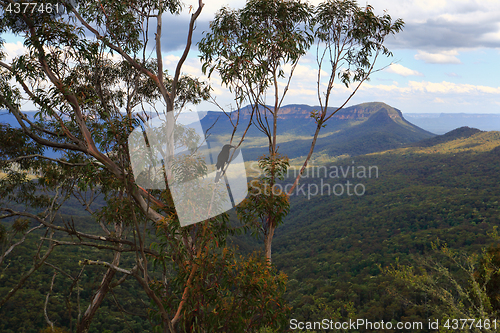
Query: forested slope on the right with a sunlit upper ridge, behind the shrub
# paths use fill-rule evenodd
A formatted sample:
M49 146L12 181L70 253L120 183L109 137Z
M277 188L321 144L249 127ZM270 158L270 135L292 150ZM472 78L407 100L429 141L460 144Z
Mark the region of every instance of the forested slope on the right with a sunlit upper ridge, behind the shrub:
M433 315L414 303L401 306L402 298L386 289L394 281L378 265L415 265L414 255L432 258L437 238L468 253L493 244L488 233L500 224L500 132L461 136L465 132L471 131L459 129L447 136L455 139L429 147L339 160L326 165L328 174L306 172L312 176L301 179L305 191L292 195L273 241L273 264L289 277L293 318L326 317L347 302L369 321L427 321ZM331 172L370 166L379 176ZM361 184L363 195L353 195L354 186L349 195L347 181ZM427 301L403 295L415 304Z

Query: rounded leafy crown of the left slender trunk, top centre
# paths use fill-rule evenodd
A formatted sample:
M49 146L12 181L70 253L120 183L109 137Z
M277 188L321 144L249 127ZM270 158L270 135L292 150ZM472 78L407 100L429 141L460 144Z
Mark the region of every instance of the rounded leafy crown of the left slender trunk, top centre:
M298 1L251 0L240 10L223 7L198 44L202 70L217 70L222 83L241 81L264 91L273 74L296 62L313 41L311 8Z

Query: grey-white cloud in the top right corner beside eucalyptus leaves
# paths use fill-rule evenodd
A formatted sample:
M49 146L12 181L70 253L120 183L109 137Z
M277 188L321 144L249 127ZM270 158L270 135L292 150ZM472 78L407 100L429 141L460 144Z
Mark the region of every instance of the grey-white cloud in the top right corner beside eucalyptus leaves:
M389 38L390 48L439 52L449 49L500 47L500 1L407 0L395 3L374 0L405 21L402 32Z

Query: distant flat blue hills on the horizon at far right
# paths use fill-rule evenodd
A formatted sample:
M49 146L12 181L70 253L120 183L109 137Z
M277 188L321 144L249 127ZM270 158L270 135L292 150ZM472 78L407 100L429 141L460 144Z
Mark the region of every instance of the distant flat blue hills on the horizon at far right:
M482 131L500 131L500 114L405 113L404 116L413 124L435 134L444 134L463 126Z

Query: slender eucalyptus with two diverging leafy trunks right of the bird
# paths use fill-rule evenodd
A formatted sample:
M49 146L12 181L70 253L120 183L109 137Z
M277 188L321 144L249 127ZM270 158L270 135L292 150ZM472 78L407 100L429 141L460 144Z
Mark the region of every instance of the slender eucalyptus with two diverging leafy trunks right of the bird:
M402 27L401 19L377 16L371 6L361 8L351 0L328 0L317 7L300 1L249 0L243 9L221 8L199 43L205 73L218 73L237 105L251 106L253 123L268 139L269 155L259 162L265 176L249 187L252 193L239 206L239 216L262 232L269 261L274 230L286 216L288 197L307 167L321 128L369 78L378 56L391 55L384 42ZM282 155L286 152L278 152L278 118L294 70L311 49L317 56L320 108L311 113L317 127L300 172L284 193L275 187L288 168ZM353 89L339 108L330 110L337 79Z

